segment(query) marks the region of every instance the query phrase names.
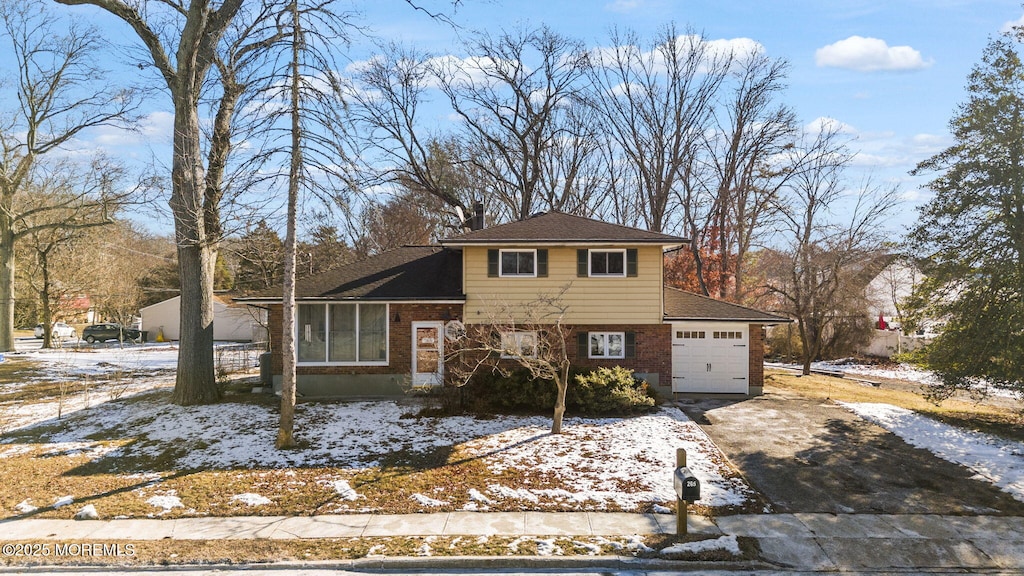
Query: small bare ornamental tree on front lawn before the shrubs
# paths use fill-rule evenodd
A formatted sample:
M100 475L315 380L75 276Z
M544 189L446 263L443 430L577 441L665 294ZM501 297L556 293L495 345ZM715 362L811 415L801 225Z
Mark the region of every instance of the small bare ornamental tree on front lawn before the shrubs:
M466 336L449 353L452 382L465 385L481 370L507 375L509 366L529 371L534 378L551 380L557 388L551 434L561 434L565 394L569 384L571 329L565 324L568 304L563 296L569 284L529 302L495 302L485 323L469 326Z

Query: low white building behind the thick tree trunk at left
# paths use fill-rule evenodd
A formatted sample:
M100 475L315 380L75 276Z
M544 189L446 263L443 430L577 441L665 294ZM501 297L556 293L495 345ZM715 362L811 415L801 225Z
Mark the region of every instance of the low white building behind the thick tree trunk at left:
M181 296L174 296L139 311L146 340L154 342L163 334L167 341L177 340L181 318ZM219 296L213 297L213 339L248 342L266 341L266 311L236 304Z

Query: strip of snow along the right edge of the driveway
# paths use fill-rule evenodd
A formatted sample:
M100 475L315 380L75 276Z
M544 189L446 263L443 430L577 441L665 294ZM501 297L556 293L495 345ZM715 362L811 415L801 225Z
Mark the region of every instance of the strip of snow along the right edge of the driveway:
M977 472L977 479L990 482L1024 501L1024 443L950 426L889 404L841 404L907 444L966 466Z

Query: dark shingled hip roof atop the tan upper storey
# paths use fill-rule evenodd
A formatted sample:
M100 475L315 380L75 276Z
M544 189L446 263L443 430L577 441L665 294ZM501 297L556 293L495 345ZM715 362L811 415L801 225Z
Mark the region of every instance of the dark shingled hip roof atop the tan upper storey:
M602 222L562 212L544 212L525 220L468 232L442 240L441 244L461 246L464 244L509 242L559 244L606 242L674 245L684 244L688 241L678 236Z

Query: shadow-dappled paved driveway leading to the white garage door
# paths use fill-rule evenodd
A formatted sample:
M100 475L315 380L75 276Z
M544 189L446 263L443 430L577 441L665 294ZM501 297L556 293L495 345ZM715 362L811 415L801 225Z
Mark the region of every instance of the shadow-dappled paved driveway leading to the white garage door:
M1024 516L1024 502L829 401L766 387L681 407L776 512Z

